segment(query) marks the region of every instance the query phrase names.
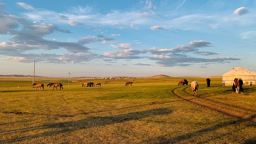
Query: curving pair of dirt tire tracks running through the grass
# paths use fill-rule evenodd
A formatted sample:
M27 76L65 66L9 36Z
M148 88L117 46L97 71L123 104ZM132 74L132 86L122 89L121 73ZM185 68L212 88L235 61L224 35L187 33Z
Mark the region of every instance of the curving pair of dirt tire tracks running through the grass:
M178 87L173 89L172 92L179 98L191 102L193 104L197 104L204 108L209 108L211 110L220 112L222 114L226 114L228 116L256 123L255 110L242 108L240 106L235 106L232 104L225 104L224 102L218 102L216 100L210 100L208 98L195 97L192 96L192 94L186 92L187 88L190 87ZM182 93L186 93L186 96L180 94L180 91L182 91Z

